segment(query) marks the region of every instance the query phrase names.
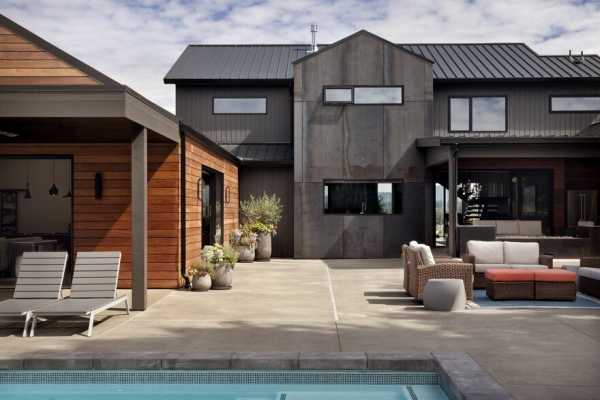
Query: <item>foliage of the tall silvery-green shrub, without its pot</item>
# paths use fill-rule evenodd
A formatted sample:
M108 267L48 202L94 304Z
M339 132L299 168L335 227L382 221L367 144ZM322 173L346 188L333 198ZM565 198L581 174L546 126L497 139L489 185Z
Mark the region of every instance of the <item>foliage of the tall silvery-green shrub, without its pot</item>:
M245 225L255 233L277 233L283 206L277 195L263 193L260 197L250 195L248 200L240 202L240 211Z

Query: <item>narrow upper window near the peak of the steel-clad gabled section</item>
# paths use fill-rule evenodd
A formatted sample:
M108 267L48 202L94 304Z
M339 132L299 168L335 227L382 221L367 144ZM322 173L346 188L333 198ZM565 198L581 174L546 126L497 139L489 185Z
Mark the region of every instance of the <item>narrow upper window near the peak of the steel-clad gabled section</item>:
M402 86L325 86L325 104L403 104Z

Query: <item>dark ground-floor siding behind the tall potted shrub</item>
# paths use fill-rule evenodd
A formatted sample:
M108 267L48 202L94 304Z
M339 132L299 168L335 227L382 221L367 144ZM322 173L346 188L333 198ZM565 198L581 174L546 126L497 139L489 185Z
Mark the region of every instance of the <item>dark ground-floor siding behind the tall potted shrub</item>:
M240 170L240 198L276 194L283 203L283 216L273 238L273 257L294 255L294 189L292 166L243 166Z

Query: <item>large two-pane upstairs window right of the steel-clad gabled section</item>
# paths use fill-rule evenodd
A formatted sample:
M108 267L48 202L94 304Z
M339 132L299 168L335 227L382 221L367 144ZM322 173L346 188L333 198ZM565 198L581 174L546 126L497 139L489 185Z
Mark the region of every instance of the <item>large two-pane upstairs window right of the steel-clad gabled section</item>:
M450 132L506 132L506 97L450 97Z

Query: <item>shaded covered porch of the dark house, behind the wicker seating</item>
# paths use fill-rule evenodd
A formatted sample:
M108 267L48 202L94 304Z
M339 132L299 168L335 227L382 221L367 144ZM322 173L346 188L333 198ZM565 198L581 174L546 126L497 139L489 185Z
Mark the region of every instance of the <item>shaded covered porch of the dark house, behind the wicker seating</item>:
M428 239L450 255L466 239L493 240L490 226L498 239L537 241L558 257L595 254L597 137L432 137L417 146L434 192Z

